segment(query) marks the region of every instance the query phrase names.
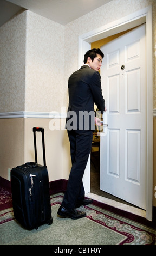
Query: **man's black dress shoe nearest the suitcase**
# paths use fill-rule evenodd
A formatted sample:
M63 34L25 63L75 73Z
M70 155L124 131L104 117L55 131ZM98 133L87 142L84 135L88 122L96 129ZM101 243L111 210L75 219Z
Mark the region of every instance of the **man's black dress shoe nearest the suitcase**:
M73 220L76 220L77 218L85 217L86 212L77 211L76 209L67 210L61 205L59 211L57 212L57 216L62 218L72 218Z

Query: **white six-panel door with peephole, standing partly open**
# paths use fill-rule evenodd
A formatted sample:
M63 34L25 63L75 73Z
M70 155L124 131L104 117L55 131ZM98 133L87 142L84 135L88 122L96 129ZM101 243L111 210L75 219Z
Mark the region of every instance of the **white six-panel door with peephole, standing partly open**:
M141 25L101 47L108 128L100 139L100 189L142 209L147 171L145 44L146 26Z

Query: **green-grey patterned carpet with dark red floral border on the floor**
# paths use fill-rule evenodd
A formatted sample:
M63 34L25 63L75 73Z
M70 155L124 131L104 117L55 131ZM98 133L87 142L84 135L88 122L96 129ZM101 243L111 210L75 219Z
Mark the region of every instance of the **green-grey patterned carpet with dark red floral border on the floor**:
M2 192L1 209L11 204L9 193ZM96 250L100 249L100 253L105 252L102 247L104 245L155 245L156 234L153 228L128 220L94 204L79 208L86 211L87 216L84 218L59 218L57 210L62 202L63 193L50 198L53 224L44 224L37 230L24 229L15 220L12 208L1 210L0 245L87 245Z

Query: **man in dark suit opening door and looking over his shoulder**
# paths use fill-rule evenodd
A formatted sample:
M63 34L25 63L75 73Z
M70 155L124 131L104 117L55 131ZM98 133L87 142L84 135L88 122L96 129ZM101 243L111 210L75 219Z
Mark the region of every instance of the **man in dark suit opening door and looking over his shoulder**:
M74 220L85 217L86 212L77 211L75 208L93 201L85 199L82 178L92 148L95 124L101 125L101 120L95 117L94 103L101 113L106 111L99 74L103 57L100 49L89 50L85 54L85 65L75 71L68 80L69 106L66 129L70 141L72 169L66 193L57 212L59 217Z

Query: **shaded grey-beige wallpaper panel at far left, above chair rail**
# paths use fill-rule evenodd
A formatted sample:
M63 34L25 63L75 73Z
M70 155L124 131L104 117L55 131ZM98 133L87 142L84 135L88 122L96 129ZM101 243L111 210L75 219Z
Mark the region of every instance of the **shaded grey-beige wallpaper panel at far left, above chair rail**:
M25 19L23 13L0 27L0 112L24 109Z

